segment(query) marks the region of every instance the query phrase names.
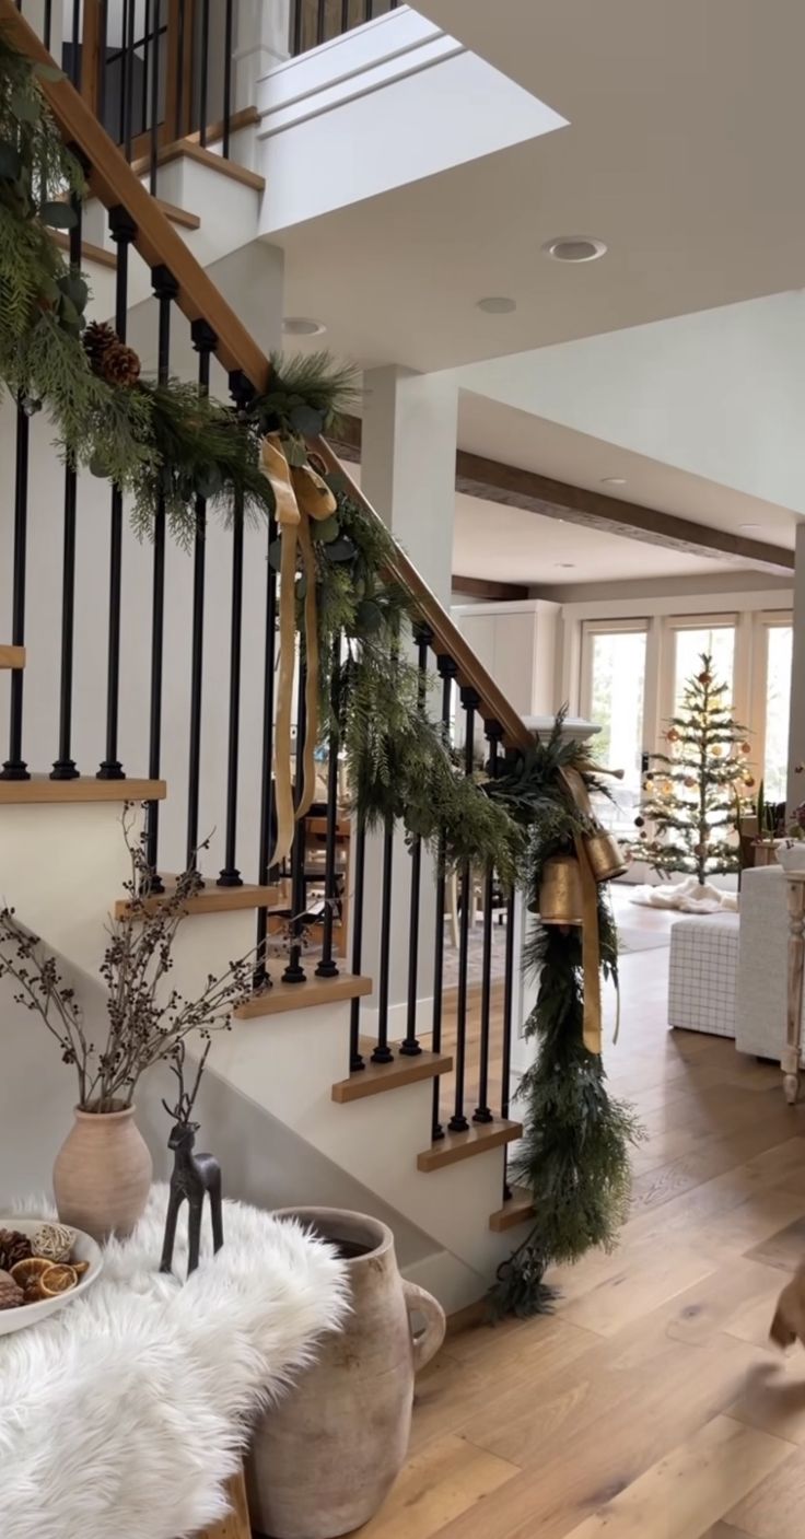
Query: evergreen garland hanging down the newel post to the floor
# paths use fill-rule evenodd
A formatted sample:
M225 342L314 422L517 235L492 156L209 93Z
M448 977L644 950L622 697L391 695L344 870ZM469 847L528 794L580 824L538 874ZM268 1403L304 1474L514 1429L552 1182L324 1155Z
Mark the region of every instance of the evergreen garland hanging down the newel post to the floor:
M562 771L577 770L588 790L605 793L586 748L563 740L562 722L563 713L549 737L539 739L491 788L528 831L522 886L533 911L545 862L573 853L576 836L593 831ZM617 983L617 931L605 888L599 888L599 934L603 977ZM551 1264L579 1260L593 1247L613 1248L628 1208L630 1145L640 1137L631 1107L608 1094L602 1059L583 1045L580 926L537 925L523 965L540 979L525 1023L537 1056L516 1093L523 1102L525 1133L509 1174L533 1193L537 1216L499 1268L489 1296L494 1316L549 1310L556 1290L545 1273Z

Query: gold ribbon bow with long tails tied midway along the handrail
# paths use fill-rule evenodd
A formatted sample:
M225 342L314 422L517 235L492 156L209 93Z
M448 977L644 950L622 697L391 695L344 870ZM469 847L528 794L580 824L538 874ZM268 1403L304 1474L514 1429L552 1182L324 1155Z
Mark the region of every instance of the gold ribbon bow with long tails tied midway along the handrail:
M316 616L316 557L311 519L329 519L336 512L336 497L326 482L309 465L289 465L282 436L269 432L260 449L263 474L274 489L276 516L280 531L280 669L277 677L277 714L274 720L274 797L277 836L269 866L280 865L291 853L294 826L305 817L316 796L316 740L319 737L319 628ZM305 745L303 782L294 786L291 777L291 719L294 709L296 660L296 574L297 553L302 551L305 573ZM297 722L297 731L300 723Z

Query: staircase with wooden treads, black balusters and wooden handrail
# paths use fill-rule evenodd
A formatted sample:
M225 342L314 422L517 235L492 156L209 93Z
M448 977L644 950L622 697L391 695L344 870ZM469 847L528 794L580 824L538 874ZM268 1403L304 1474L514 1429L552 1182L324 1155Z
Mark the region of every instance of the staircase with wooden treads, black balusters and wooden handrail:
M0 0L0 25L31 58L48 63L45 42L26 20L29 9ZM97 20L89 0L83 17L85 26ZM94 275L94 314L111 317L120 337L131 339L134 329L143 360L151 346L165 374L188 377L192 359L206 388L211 369L223 368L234 400L248 400L266 388L269 359L202 263L229 254L226 228L240 228L245 203L262 192L248 166L219 152L222 143L231 146L232 129L248 134L249 123L231 115L217 149L214 125L179 140L160 128L137 155L142 146L115 146L99 120L89 57L85 49L80 80L75 66L74 80L46 78L43 91L89 168L92 202L71 257ZM160 197L151 191L157 171ZM159 359L154 339L140 346L148 326L155 334L154 309ZM259 943L286 930L286 954L269 953L252 997L209 1059L200 1116L229 1191L263 1205L369 1207L394 1224L409 1277L449 1310L471 1304L511 1250L508 1230L516 1240L517 1225L531 1216L528 1196L508 1191L505 1163L520 1134L508 1114L514 900L505 905L505 956L494 977L488 879L480 977L473 983L473 873L462 873L457 982L445 988L445 883L434 888L423 853L409 854L392 828L366 836L352 822L337 931L331 899L343 808L334 776L319 830L297 834L291 897L283 896L268 868L276 574L266 549L274 525L248 528L235 509L232 528L223 529L200 505L191 553L172 549L165 520L151 546L137 545L108 485L82 476L77 496L68 488L55 497L71 472L58 465L46 423L5 405L0 432L3 463L15 463L14 485L6 477L0 486L0 571L11 574L11 593L0 600L9 636L0 645L0 669L9 677L2 685L9 705L0 773L3 897L78 970L92 1011L100 993L95 999L89 977L103 917L125 902L122 803L143 803L149 860L165 885L165 873L180 870L212 830L205 886L183 926L177 985L189 991L211 968L245 954L256 926ZM343 471L323 440L314 446L329 468ZM377 519L360 489L349 488L365 516ZM443 720L460 719L466 773L476 723L493 765L499 754L520 751L528 743L522 720L399 548L394 576L416 600L420 666L439 673ZM308 836L316 834L329 917L309 931L308 959L299 916L306 906ZM46 1048L32 1040L28 1022L23 1040L20 1011L6 996L3 1010L12 1047L0 1125L17 1156L6 1179L31 1185L37 1157L46 1179L69 1107L63 1071L48 1079ZM31 1085L38 1087L35 1128ZM149 1083L139 1108L157 1159L165 1142L162 1093L160 1083ZM11 1196L11 1187L3 1194Z

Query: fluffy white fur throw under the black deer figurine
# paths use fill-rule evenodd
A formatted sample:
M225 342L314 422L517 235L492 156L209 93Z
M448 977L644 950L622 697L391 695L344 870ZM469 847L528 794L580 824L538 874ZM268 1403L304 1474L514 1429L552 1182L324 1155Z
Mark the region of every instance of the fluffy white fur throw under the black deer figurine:
M249 1422L343 1319L346 1274L332 1250L234 1202L223 1250L183 1285L160 1277L166 1191L154 1187L131 1240L108 1245L83 1299L0 1337L2 1539L206 1528L226 1511L223 1482ZM180 1220L177 1277L185 1231Z

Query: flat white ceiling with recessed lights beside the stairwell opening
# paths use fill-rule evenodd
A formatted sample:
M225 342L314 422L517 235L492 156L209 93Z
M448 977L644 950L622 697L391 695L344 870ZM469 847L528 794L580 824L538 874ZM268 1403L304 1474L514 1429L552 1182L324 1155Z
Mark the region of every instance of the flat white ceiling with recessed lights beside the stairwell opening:
M419 9L570 126L272 235L336 351L429 371L802 283L802 0ZM608 255L545 260L560 234Z

